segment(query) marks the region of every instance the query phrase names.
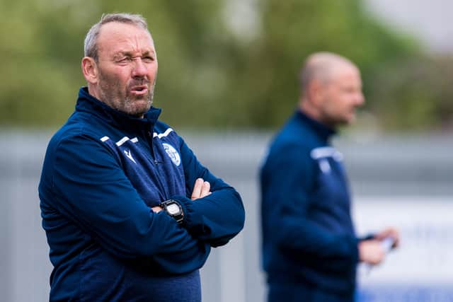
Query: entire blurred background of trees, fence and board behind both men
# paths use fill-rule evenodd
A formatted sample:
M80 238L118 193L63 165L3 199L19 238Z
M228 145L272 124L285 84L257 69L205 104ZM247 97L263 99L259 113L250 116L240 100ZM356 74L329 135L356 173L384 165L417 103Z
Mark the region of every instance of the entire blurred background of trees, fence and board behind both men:
M383 265L359 268L357 300L453 301L453 3L442 0L0 1L0 301L48 299L42 159L85 85L84 35L117 11L149 22L162 120L246 206L241 235L202 269L204 301L264 301L258 168L320 50L362 70L367 104L334 141L357 231L402 236Z

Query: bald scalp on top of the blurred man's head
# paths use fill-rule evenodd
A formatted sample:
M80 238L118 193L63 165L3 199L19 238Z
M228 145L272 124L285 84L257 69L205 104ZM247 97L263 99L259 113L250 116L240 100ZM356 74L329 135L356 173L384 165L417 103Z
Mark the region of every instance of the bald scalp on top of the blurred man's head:
M316 52L305 60L300 72L300 85L302 91L308 91L311 81L328 83L340 69L357 69L355 64L339 54L333 52Z

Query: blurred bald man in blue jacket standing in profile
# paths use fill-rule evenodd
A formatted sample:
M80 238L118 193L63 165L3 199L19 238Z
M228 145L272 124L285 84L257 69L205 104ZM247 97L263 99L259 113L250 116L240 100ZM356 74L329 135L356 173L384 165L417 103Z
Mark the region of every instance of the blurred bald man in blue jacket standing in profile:
M297 111L276 135L260 174L263 266L268 301L350 302L358 262L384 260L386 228L355 235L342 155L329 140L365 102L360 71L338 54L319 52L301 71Z

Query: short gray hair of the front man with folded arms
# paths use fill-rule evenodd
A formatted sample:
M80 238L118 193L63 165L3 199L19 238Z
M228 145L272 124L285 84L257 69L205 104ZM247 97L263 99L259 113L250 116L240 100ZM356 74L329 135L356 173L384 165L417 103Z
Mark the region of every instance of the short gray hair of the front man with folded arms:
M84 41L84 56L92 57L96 62L98 62L98 37L101 32L101 27L104 24L110 22L126 23L131 25L136 25L139 28L148 30L147 21L141 15L135 15L132 13L107 13L101 16L101 21L91 26L88 33L86 33ZM151 35L151 33L150 33Z

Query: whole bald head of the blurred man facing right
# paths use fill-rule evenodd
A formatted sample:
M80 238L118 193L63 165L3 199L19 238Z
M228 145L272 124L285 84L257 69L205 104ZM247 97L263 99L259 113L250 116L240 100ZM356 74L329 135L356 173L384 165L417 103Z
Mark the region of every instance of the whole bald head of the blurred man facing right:
M329 127L353 122L355 109L365 102L359 69L338 54L311 54L300 81L300 110Z

